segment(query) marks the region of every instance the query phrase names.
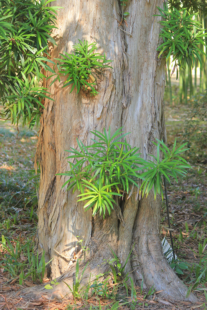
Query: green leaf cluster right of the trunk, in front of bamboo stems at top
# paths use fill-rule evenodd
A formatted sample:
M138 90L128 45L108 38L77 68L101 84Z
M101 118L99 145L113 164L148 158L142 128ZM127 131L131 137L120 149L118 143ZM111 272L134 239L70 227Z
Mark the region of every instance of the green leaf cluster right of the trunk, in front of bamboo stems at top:
M199 44L205 46L203 37L204 29L199 21L194 18L199 14L190 14L187 9L177 10L175 7L169 11L167 6L164 6L164 10L158 7L160 15L164 20L159 23L163 26L160 33L160 37L163 38L163 43L157 48L160 51L159 56L163 55L166 60L173 56L175 68L177 68L178 78L178 66L185 68L186 64L188 67L193 67L195 63L195 57L200 62L202 69L201 54L205 54L204 51L199 47Z

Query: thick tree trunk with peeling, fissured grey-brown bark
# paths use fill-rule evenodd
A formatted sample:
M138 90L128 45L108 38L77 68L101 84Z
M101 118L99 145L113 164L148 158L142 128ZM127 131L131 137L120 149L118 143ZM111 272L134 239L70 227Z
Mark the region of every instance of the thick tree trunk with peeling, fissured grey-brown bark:
M97 96L91 97L84 91L76 95L75 89L70 93L71 86L62 89L63 82L50 87L54 101L45 101L37 149L41 168L38 248L45 250L47 260L53 259L52 278L63 274L58 281L65 279L71 285L74 257L81 250L77 236L89 249L85 282L90 273L93 277L106 271L107 259L113 257L110 247L124 265L134 244L134 258L126 266L126 271L133 271L134 282L140 285L143 274L146 287L154 285L156 290L163 290L162 296L185 299L187 288L169 268L161 248L160 197L154 201L150 194L147 199L136 201L135 191L128 200L124 197L119 201L110 216L92 218L92 211L85 212L83 205L76 202L78 192L73 194L62 188L67 177L56 175L70 170L65 150L78 147L76 138L85 145L91 144L92 130L103 132L105 127L108 131L110 126L111 132L115 132L123 126L125 132L130 132L128 143L139 147L144 158L155 151L155 138L166 141L165 65L156 51L160 18L153 16L158 14L156 7L163 7L163 1L129 0L127 28L119 24L117 0L59 0L57 5L65 9L59 12L58 46L51 52L52 59L62 51L70 53L78 39L85 39L97 42L98 52L113 60L113 69L102 70L97 76ZM50 82L45 82L46 87ZM84 262L80 270L83 267ZM39 293L45 291L42 287ZM63 283L55 287L53 296L67 292ZM195 301L196 297L191 294L189 299Z

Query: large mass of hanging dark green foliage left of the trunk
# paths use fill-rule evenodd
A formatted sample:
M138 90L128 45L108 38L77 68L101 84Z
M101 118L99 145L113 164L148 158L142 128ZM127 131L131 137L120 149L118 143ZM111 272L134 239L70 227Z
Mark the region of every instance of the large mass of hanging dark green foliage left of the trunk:
M48 98L38 83L45 78L44 71L52 71L48 42L56 44L51 33L57 28L58 9L47 7L52 1L0 0L0 98L5 110L1 116L13 124L23 117L23 126L26 120L34 126Z

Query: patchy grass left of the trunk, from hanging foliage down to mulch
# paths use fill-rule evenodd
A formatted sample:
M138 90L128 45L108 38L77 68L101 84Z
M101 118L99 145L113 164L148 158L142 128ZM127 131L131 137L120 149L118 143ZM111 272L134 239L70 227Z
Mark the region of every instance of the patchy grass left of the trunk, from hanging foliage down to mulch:
M6 237L8 239L6 239L5 245L8 246L8 240L12 251L17 252L16 255L9 256L11 258L14 256L11 261L16 261L14 269L16 275L19 276L21 269L27 267L25 262L27 255L22 251L22 247L29 244L29 250L32 253L33 242L31 239L34 238L36 232L37 201L34 197L36 184L29 179L34 175L34 172L30 170L34 165L37 138L34 137L34 131L28 131L26 128L20 129L18 136L16 136L17 133L16 127L8 122L0 121L0 148L2 151L0 158L1 259L5 258L5 255L9 255L7 249L3 247L3 238ZM19 250L16 250L17 245L19 245Z

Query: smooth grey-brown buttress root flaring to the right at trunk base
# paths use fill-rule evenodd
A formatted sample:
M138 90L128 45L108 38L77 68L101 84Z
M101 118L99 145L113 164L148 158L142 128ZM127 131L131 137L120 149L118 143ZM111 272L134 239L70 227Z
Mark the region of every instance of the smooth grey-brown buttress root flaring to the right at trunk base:
M190 294L186 297L187 287L178 278L163 254L159 238L159 206L152 195L142 200L138 210L137 223L134 231L135 260L133 261L136 270L137 280L140 285L140 274L143 275L146 287L152 286L160 292L160 296L172 300L189 300L196 302L197 297Z

